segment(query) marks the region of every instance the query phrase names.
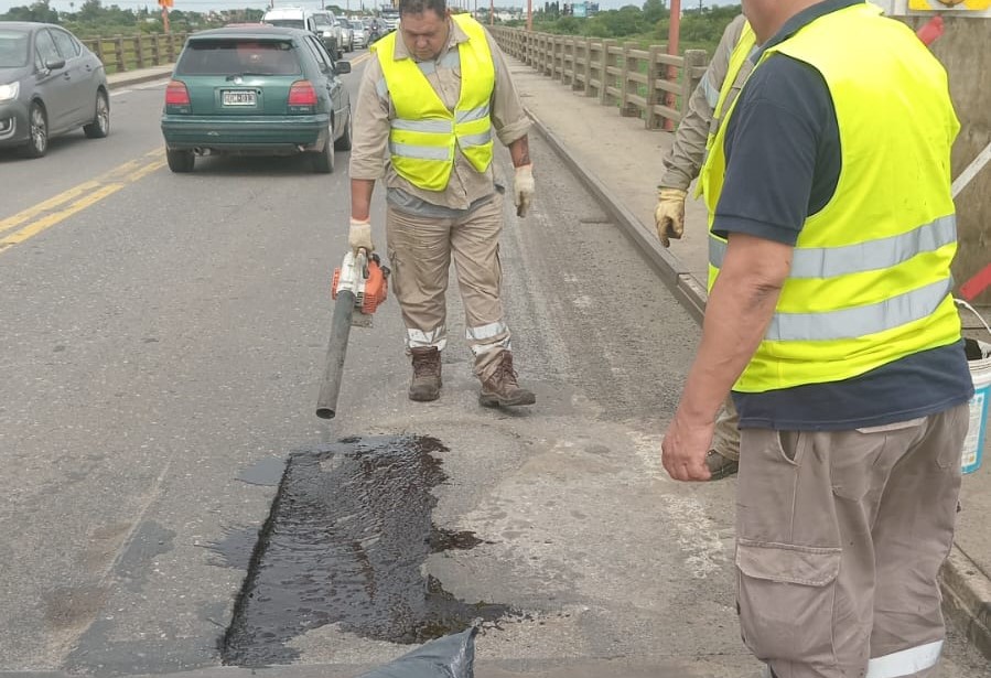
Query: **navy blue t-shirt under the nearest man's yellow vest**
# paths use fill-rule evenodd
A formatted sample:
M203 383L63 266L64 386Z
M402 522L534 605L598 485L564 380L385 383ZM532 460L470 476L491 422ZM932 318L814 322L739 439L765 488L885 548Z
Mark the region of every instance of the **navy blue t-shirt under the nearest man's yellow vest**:
M818 3L788 21L764 49L818 17L858 3ZM836 108L821 74L787 55L768 56L740 93L723 149L726 176L712 230L730 239L745 233L795 245L808 216L832 198L842 165ZM733 391L733 401L741 428L843 430L924 417L972 395L960 341L842 381Z

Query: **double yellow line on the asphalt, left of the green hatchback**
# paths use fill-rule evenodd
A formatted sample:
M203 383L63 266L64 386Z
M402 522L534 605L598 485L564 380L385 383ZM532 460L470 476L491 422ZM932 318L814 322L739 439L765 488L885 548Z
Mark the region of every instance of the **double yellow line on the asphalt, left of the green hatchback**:
M146 154L146 158L153 159L152 162L148 160L130 160L105 172L95 180L73 186L13 216L0 219L0 233L11 230L25 223L28 224L0 239L0 252L51 228L67 217L95 205L108 195L117 193L126 185L163 168L165 161L162 160L162 149L155 149Z

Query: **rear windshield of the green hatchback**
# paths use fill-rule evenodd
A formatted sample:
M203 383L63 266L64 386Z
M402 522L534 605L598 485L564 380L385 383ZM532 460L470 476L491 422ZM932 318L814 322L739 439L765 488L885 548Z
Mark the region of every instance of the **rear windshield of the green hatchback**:
M175 65L176 75L298 75L292 43L248 39L192 40Z

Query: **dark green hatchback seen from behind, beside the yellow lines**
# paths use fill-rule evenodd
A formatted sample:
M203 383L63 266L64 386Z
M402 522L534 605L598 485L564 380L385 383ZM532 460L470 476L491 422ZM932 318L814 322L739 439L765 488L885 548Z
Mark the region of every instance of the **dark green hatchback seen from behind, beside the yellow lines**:
M310 157L334 171L334 151L351 150L351 95L334 61L310 31L268 25L191 35L165 89L162 134L173 172L197 155Z

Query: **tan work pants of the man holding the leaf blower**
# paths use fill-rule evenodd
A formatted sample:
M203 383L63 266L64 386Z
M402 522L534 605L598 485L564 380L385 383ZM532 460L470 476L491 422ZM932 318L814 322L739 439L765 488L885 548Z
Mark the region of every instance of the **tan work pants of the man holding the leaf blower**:
M503 200L480 205L457 218L422 217L388 207L386 236L391 286L402 311L406 347L448 343L448 277L451 259L464 303L465 338L475 356L474 374L487 379L503 351L509 351L509 327L503 320L499 286L499 234Z

